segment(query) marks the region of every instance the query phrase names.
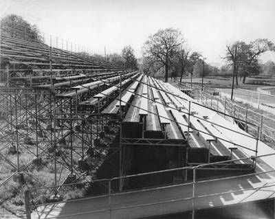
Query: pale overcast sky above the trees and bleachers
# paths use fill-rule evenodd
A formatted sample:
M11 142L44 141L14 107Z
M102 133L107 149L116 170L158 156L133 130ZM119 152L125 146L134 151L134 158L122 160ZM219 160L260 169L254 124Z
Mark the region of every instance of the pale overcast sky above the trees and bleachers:
M274 0L0 0L0 15L11 13L99 54L131 45L140 57L146 38L166 27L179 28L210 63L221 63L225 45L237 40L275 42ZM275 54L262 59L275 62Z

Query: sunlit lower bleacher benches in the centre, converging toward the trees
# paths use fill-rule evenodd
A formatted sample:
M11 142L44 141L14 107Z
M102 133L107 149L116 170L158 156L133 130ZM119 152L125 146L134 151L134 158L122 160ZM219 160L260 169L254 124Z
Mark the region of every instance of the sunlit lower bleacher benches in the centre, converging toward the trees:
M189 132L190 148L210 148L210 154L216 157L247 157L241 148L235 150L238 143L225 135L225 129L211 121L216 113L199 104L190 104L188 130L189 101L193 99L171 84L140 75L124 89L121 103L117 97L102 113L115 115L121 104L124 112L122 130L124 126L126 138L184 140Z

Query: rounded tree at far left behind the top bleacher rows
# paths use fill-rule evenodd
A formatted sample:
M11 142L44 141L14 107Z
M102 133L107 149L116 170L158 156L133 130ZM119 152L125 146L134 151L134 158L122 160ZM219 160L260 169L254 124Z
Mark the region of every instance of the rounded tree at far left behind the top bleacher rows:
M36 25L31 25L16 14L10 14L1 19L1 31L11 37L42 42L42 37Z

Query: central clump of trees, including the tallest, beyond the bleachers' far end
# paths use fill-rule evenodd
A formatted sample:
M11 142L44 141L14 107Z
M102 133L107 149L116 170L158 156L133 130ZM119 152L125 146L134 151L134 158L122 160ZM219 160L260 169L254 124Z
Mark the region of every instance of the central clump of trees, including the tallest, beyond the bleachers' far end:
M142 71L153 76L202 76L219 69L205 62L203 56L186 45L178 29L166 28L148 37L142 48Z

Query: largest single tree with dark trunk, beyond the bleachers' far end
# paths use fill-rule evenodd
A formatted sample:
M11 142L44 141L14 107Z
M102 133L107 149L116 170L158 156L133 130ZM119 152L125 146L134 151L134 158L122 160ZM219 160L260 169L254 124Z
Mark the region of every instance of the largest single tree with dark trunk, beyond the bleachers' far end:
M165 82L168 82L168 70L172 63L179 45L184 42L181 32L174 28L159 30L148 37L144 43L143 56L145 60L150 60L151 65L164 67Z

